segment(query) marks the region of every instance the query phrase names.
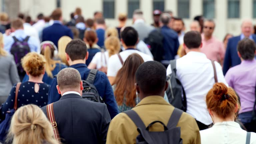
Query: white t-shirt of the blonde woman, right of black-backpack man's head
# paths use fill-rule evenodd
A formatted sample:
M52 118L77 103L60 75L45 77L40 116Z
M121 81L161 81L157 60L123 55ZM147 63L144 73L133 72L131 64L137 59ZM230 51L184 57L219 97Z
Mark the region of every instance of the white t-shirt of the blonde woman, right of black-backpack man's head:
M109 59L108 51L105 51L104 53L97 52L92 58L91 63L97 65L96 69L100 69L101 67L108 67L108 59Z

